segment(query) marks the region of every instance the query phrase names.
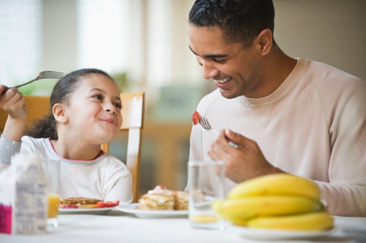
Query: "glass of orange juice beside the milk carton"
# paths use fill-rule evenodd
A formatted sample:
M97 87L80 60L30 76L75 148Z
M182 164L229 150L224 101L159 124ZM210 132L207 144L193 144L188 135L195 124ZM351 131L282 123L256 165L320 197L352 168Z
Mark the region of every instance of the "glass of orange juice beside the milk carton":
M47 225L57 227L59 203L59 161L55 159L43 159L42 164L47 178Z

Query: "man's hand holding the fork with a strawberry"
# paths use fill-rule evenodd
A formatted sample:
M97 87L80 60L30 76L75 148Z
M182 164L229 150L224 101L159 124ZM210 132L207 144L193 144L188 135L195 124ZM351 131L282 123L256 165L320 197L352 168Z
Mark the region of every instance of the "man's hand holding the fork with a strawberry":
M239 145L234 148L228 139ZM213 160L225 163L225 176L240 183L250 178L283 172L271 165L264 157L257 143L231 130L222 130L217 140L212 143L208 155Z

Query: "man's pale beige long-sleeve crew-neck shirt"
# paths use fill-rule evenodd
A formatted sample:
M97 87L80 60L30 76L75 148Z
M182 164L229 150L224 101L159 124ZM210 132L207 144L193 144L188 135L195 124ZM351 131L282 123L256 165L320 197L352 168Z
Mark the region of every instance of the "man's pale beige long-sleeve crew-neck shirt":
M366 216L366 83L359 78L297 58L270 95L226 99L215 90L197 111L215 129L256 141L272 165L314 180L331 214ZM209 159L216 136L193 126L190 160ZM226 192L235 185L226 178Z

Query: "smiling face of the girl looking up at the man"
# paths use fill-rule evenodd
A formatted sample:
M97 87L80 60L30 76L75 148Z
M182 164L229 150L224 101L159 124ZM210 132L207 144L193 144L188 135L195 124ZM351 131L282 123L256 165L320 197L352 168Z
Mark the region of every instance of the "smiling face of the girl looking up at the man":
M71 96L66 113L69 129L91 144L108 143L122 124L117 84L102 74L83 77Z

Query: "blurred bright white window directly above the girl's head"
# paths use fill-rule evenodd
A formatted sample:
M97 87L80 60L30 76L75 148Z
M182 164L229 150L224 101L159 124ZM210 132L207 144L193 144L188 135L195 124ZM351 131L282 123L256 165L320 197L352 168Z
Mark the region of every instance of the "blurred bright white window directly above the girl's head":
M78 67L125 71L128 63L129 1L78 0Z

